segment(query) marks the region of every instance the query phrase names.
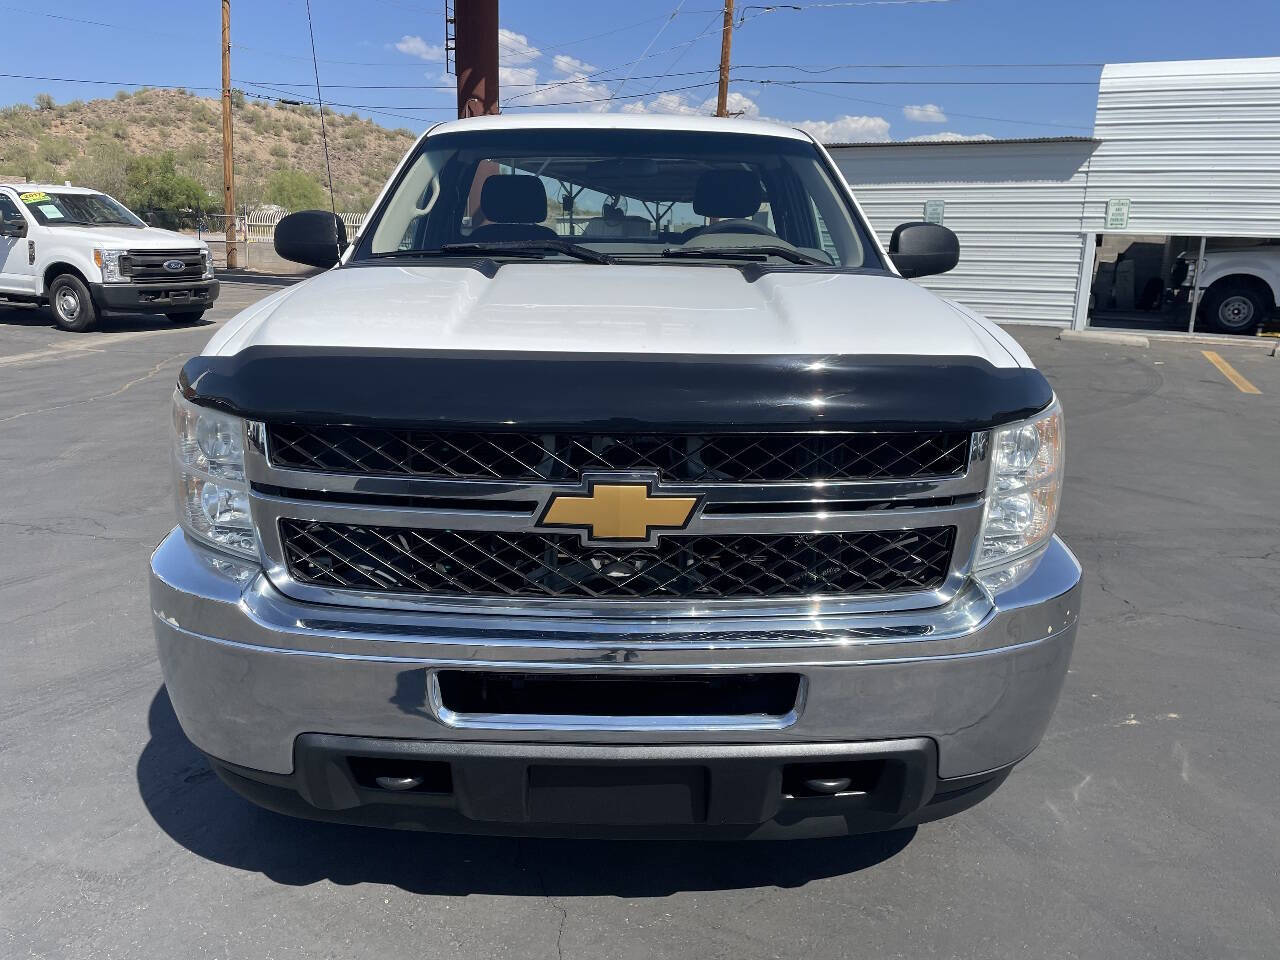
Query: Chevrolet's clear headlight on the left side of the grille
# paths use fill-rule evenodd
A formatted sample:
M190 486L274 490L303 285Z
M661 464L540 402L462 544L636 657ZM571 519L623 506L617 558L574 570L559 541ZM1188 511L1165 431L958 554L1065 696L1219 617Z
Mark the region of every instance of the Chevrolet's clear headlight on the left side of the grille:
M173 396L178 521L192 536L257 558L244 481L244 421Z

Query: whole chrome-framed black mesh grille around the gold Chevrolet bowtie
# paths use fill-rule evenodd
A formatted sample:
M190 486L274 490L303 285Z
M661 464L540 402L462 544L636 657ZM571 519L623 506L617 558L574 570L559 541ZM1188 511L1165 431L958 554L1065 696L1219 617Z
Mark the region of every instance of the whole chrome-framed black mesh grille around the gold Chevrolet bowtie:
M813 617L954 596L988 445L987 433L943 430L604 438L251 422L246 472L266 573L296 599L562 618L741 617L754 603ZM646 497L696 503L682 527L609 541L549 522L558 498L641 483Z

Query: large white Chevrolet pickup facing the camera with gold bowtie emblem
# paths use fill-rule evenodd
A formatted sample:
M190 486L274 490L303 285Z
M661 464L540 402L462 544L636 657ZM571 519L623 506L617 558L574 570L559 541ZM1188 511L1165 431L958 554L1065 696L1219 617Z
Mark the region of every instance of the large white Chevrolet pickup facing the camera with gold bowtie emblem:
M1062 412L745 120L431 128L335 266L178 381L151 561L183 730L300 817L516 835L888 829L1038 744L1080 611ZM339 256L340 255L340 256Z

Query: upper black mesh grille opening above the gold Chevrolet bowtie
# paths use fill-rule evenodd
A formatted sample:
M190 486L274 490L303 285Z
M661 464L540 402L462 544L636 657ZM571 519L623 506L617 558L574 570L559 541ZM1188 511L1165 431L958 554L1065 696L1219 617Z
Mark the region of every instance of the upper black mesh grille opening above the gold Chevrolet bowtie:
M330 474L573 481L657 470L667 481L785 483L959 476L966 433L518 434L274 424L271 462Z

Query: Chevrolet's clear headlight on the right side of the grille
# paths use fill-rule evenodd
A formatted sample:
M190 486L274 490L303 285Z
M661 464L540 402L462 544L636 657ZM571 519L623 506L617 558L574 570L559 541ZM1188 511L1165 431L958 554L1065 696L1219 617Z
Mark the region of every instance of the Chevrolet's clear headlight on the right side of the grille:
M978 570L1004 566L1048 543L1062 499L1062 408L991 431L991 481Z

